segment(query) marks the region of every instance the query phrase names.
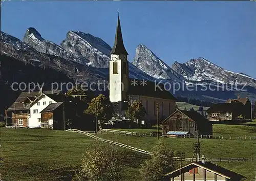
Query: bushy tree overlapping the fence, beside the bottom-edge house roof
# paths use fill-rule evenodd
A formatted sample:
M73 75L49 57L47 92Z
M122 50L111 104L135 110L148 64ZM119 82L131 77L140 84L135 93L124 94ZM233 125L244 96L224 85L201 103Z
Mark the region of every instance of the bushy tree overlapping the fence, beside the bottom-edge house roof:
M161 180L164 174L175 169L174 152L167 149L161 140L153 147L152 152L151 158L140 168L143 180Z

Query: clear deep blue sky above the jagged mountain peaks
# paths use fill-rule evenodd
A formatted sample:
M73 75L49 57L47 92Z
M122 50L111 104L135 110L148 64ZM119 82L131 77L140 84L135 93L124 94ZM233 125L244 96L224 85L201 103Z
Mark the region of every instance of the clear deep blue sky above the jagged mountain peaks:
M118 10L130 61L143 43L170 66L204 57L256 78L256 2L6 1L1 30L23 39L34 27L57 44L82 31L112 47Z

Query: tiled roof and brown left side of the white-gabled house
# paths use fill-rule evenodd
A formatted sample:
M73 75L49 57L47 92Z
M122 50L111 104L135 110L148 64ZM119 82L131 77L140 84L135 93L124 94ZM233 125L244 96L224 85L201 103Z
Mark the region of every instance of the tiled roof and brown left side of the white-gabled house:
M44 91L46 94L63 95L61 90L52 92ZM30 109L27 106L33 102L42 92L22 92L15 102L7 109L7 115L12 118L14 126L27 126Z

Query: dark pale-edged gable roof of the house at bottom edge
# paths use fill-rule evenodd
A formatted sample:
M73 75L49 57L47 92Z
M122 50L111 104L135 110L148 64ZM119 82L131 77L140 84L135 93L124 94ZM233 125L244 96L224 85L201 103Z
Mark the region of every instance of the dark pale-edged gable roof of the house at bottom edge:
M195 167L201 167L201 168L204 168L210 172L214 172L218 175L221 175L223 177L226 177L228 179L243 179L243 178L246 178L245 176L241 175L241 174L238 174L236 172L233 172L231 170L228 170L226 168L223 168L223 167L220 167L218 165L215 165L215 164L212 164L210 162L205 162L205 163L202 163L202 162L191 162L187 165L184 165L182 167L182 172L187 172ZM165 176L173 176L173 177L176 177L176 176L179 176L180 175L180 168L179 169L176 169L172 172L169 172L167 174L165 174Z

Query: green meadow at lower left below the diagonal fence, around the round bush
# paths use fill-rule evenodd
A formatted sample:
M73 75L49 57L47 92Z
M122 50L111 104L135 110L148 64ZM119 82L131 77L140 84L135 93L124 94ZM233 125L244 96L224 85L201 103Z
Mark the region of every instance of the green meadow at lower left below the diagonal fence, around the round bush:
M1 128L1 178L3 180L61 180L79 168L82 153L106 146L85 135L48 129ZM123 180L133 180L136 167L146 158L126 152ZM133 161L136 160L134 163ZM67 180L67 178L65 179Z

